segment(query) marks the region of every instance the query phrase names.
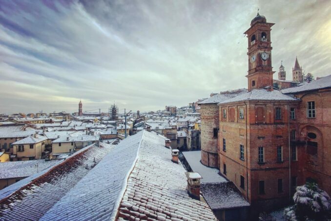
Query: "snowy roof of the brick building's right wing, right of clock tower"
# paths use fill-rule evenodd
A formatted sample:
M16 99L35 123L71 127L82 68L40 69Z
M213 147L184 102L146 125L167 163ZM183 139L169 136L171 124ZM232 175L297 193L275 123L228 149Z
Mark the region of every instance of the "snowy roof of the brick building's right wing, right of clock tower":
M310 83L305 83L304 85L293 87L293 88L286 88L282 90L282 93L298 93L303 91L309 90L318 90L323 88L331 88L331 75L326 77L322 77L318 80L311 81Z

